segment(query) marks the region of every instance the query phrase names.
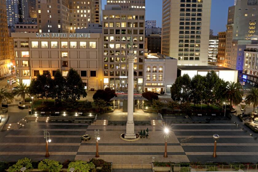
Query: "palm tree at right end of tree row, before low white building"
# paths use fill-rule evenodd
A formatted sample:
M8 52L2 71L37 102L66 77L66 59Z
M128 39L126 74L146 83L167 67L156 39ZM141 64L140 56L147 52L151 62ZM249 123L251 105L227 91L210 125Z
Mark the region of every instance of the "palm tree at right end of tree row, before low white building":
M224 91L224 96L226 100L230 101L230 108L232 108L232 104L237 105L242 101L243 91L242 87L238 82L226 82L227 86Z

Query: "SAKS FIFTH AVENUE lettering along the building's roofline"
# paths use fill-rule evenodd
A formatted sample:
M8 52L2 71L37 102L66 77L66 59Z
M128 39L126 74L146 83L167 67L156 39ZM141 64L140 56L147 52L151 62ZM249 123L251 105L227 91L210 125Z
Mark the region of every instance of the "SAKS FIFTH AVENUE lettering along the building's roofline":
M36 37L71 37L71 38L90 38L90 33L36 33Z

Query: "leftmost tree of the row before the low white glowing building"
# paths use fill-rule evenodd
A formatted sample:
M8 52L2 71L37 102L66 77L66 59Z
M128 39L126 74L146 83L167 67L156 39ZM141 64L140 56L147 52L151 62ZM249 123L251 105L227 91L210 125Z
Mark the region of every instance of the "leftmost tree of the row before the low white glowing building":
M170 87L171 98L177 101L186 102L189 101L191 96L191 78L189 75L184 74L179 76L175 83Z

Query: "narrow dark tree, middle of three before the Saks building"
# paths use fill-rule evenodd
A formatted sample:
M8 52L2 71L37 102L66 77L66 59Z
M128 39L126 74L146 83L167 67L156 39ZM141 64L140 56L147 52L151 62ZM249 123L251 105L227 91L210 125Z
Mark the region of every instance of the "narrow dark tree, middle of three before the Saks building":
M57 100L57 103L60 103L61 100L63 99L63 94L65 92L65 78L62 76L61 70L58 69L54 75L54 80L53 80L54 86L53 86L53 92L52 92L52 99Z

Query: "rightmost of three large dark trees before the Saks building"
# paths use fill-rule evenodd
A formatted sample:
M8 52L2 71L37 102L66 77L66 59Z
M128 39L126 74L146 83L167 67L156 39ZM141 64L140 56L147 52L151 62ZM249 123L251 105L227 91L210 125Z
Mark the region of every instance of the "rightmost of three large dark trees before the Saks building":
M81 96L87 96L82 79L77 71L73 68L69 69L66 76L65 93L63 94L63 96L65 100L80 100Z

